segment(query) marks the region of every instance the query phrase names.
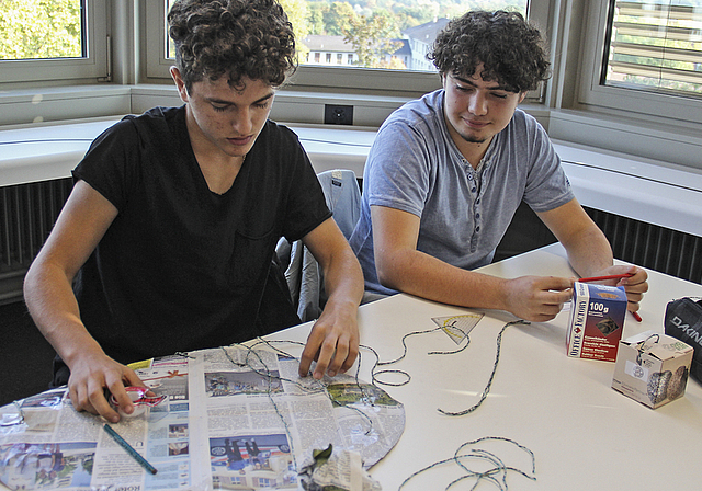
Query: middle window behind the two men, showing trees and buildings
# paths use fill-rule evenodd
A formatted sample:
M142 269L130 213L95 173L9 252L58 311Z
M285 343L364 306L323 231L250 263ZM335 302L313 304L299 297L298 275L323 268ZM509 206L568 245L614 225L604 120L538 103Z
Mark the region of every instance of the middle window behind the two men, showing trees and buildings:
M429 92L440 85L433 66L424 55L448 19L469 8L452 0L439 0L430 4L417 2L415 7L408 7L405 2L395 3L390 10L372 9L371 3L350 1L280 1L293 23L301 46L301 65L293 78L294 87L305 90L328 90L332 87L339 91L358 90L360 87L369 91L387 91L392 88L396 93L407 91L414 94ZM149 28L143 30L148 44L147 77L152 79L169 78L168 67L172 65L166 55L165 41L168 3L168 0L146 2L145 25ZM536 9L532 9L530 3L535 4ZM518 10L522 13L529 10L532 14L541 12L535 21L545 26L548 4L548 0L487 0L480 2L480 8ZM328 49L318 48L322 36L328 41L325 45L333 45L333 52L339 53L346 64L332 64ZM340 45L342 48L337 48ZM314 54L310 56L309 53ZM321 53L325 53L324 58ZM386 59L385 64L383 58Z

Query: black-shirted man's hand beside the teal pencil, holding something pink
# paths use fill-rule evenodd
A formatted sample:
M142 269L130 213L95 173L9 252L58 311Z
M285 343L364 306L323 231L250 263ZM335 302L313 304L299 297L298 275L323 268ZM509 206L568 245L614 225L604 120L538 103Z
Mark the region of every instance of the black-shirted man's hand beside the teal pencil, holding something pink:
M132 368L105 354L86 355L70 367L68 388L73 408L100 414L112 423L120 421L120 414L105 399L105 389L114 396L122 411L132 414L134 404L124 390L126 386L145 387Z

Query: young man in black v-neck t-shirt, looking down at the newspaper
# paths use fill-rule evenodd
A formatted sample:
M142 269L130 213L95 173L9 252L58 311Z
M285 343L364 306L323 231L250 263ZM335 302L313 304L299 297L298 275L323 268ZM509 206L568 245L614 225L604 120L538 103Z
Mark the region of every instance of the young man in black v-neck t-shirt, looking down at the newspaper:
M181 0L169 26L184 105L95 139L25 281L73 406L113 422L104 389L129 413L124 387L143 386L126 363L285 327L260 326L276 307L267 292L281 236L309 248L329 293L301 375L316 359L316 378L333 376L358 355L360 266L296 136L268 121L294 68L285 13L274 0Z

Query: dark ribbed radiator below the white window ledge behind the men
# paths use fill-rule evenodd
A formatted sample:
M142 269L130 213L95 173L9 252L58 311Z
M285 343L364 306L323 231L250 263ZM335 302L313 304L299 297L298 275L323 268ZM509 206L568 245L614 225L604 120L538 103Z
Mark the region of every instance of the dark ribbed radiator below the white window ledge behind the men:
M24 274L71 187L70 178L0 187L0 304L22 298ZM610 240L616 259L702 283L702 238L598 209L586 210ZM522 205L496 260L554 241L536 215Z

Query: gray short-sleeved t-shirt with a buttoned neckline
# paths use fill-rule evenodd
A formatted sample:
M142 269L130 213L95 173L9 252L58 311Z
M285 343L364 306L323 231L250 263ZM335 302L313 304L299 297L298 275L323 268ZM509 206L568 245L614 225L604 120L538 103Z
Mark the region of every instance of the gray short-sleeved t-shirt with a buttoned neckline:
M489 264L523 199L547 212L575 196L543 127L517 110L474 170L451 139L438 90L381 126L363 172L361 217L349 242L367 292L390 295L375 272L371 206L420 217L417 249L465 270Z

